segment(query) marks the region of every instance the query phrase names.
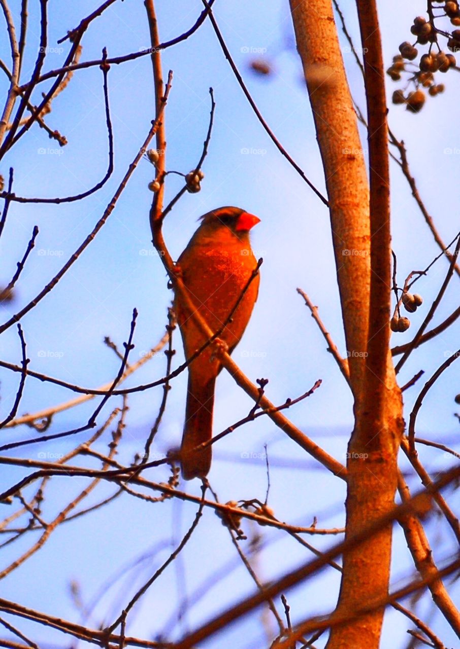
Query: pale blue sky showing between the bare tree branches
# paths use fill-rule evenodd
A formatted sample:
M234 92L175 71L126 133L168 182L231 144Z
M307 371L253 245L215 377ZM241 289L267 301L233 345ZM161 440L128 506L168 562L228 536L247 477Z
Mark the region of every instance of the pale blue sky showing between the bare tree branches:
M65 11L62 11L62 5L50 3L49 44L57 51L49 53L46 69L58 67L66 55L67 44L62 45L64 50L61 52L57 39L75 27L94 6L90 1L65 3ZM342 9L358 44L353 8L348 3ZM175 0L173 3L158 3L157 10L160 37L164 41L194 23L201 11L201 3ZM423 10L424 7L420 5L418 12L422 13ZM409 27L414 17L412 12L417 10L392 1L382 4L380 11L385 60L389 65L398 44L409 38ZM301 80L300 62L292 48L292 24L287 3L275 1L266 6L260 0L252 3L238 0L231 4L217 2L215 15L235 62L270 127L307 177L324 191L311 110ZM31 6L29 69L26 65L25 79L32 69L38 46L36 19L36 7ZM291 43L291 47L287 43ZM126 0L112 5L102 18L92 24L84 36L82 59L98 58L103 46L107 46L109 56L116 56L138 51L148 45L143 3ZM4 39L0 45L1 57L8 60L5 47ZM258 77L249 70L251 60L259 56L259 51L272 64L273 73L269 78ZM343 55L353 96L364 108L360 73L353 64L345 41ZM262 130L236 84L209 23L205 22L199 32L185 43L166 50L163 69L165 78L168 69L173 70L173 85L166 110L168 169L187 173L194 168L207 132L210 86L214 89L216 100L214 129L209 154L203 165L205 179L202 190L198 194L186 194L166 219L164 234L168 248L176 259L196 229L199 215L209 209L235 204L261 217L261 223L254 228L252 235L256 256L264 258L261 289L251 323L234 352L234 358L251 380L255 381L261 376L270 379L266 393L275 404L284 402L287 397L300 395L313 386L318 378L322 378L322 386L313 397L298 404L288 414L307 435L317 439L337 459L345 461L347 436L353 422L350 393L334 361L327 354L324 340L303 300L296 293L296 288L300 286L310 295L320 308L327 329L344 353L327 210L294 169L281 158ZM453 107L459 101L454 71L446 75L445 82L447 90L444 95L430 98L419 115L405 112L402 106L390 106L389 119L396 136L405 140L411 169L422 188L428 209L443 238L450 241L458 229L455 187L460 151L460 135L452 128ZM2 79L2 83L4 89L5 79ZM45 87L48 87L47 84L44 84L43 90ZM398 84L388 80L389 93L398 87ZM27 247L34 225L39 226L40 234L18 282L16 301L1 307L5 320L34 297L77 249L99 219L138 151L154 117L149 58L112 66L109 92L115 169L106 186L83 202L63 206L14 203L10 207L0 241L1 282L6 284L14 273L16 262ZM38 99L37 94L35 101ZM5 158L1 173L6 175L7 167L14 167L14 191L18 195L64 196L90 188L103 177L107 167L102 78L97 67L74 75L68 89L53 103L47 123L68 138L68 145L59 149L42 130L33 128ZM449 149L453 153L448 153ZM172 293L167 288L166 275L158 256L144 254L144 251L151 251L148 224L151 193L147 190L147 184L153 179L153 173L153 167L142 160L107 225L62 282L23 319L32 369L84 386L96 387L109 381L116 375L119 361L103 345L103 337L110 336L121 347L129 334L134 307L138 309L139 316L134 339L136 347L131 358L137 360L162 336L166 308ZM166 200L175 195L181 182L177 175L168 176ZM398 281L402 285L410 271L426 267L438 250L407 183L394 164L392 223L392 245L398 255ZM424 296L424 306L411 318L411 330L407 334L394 336L395 344L411 339L446 271L447 264L441 259L429 276L418 282L416 286ZM454 310L457 295L457 278L454 277L434 324ZM446 352L457 349L458 338L459 326L456 324L426 345L426 349L413 354L414 358L402 371L402 384L419 369L424 369L424 378L428 378L442 363ZM175 362L179 363L183 352L178 332L175 335L175 349ZM14 328L1 337L0 351L3 359L19 362L20 346ZM164 374L165 362L164 356L159 354L127 385L159 378ZM460 392L458 376L454 364L430 391L418 417L420 436L438 441L449 439L454 445L452 438L457 434L458 427L458 421L454 418L454 397ZM0 409L3 417L14 400L18 376L2 370L0 378ZM166 415L157 435L158 452L179 443L185 389L186 376L183 374L174 380L170 391ZM405 393L409 409L407 417L417 393L414 388ZM70 397L62 389L29 379L19 414L38 411ZM120 461L129 462L134 452L142 450L161 397L161 388L131 397ZM224 430L231 422L246 415L249 408L249 397L242 394L233 380L222 373L216 390L214 431ZM51 432L81 425L92 410L94 402L65 411L55 417ZM105 411L109 412L109 409ZM3 433L5 441L26 439L30 435L31 429L25 426ZM78 440L83 441L83 437L80 436ZM72 443L73 439L57 441L47 445L46 450L49 453L64 453ZM98 448L104 451L106 443L100 443ZM242 453L263 453L264 443L268 445L269 456L274 458L269 504L279 519L308 525L316 515L320 526L342 525L343 485L338 485L326 471L317 471L314 461L306 458L301 449L284 437L268 419L260 418L250 426L239 429L216 448L209 478L220 500L264 499L264 460L255 458L254 463L249 463L241 458ZM41 450L43 447L38 445L19 448L12 455L23 457L27 453L31 458L36 458ZM426 454L423 449L421 457L428 459L430 467L452 463L442 452L435 456L432 452ZM288 470L277 468L276 458L281 458L288 466L292 461L306 468L303 471L294 465ZM3 473L3 480L5 484L10 484L22 474L22 471L10 469ZM152 473L151 478L160 481L165 480L166 476L166 471L161 469ZM414 487L416 484L416 481L413 482ZM75 479L62 479L60 488L55 484L47 498L50 515L79 487L81 481L75 482ZM189 483L186 488L199 493L198 484ZM90 497L91 502L97 502L103 493L112 493L110 487L101 487L97 496ZM171 551L169 545L159 549L157 544L160 541L170 543L171 535L176 542L179 541L181 530L188 528L196 509L190 504L170 502L148 507L147 513L146 504L123 496L107 509L95 512L90 519L65 524L43 550L6 580L5 596L17 598L27 606L44 607L45 580L47 611L73 618L75 611L70 597L62 595L68 591L71 579L78 578L85 601L88 601L121 565L151 552L138 574L138 582L130 576L121 592L116 594L109 591L105 594L97 609L99 617L96 615L96 620L106 615L103 611L119 610L129 598L134 584L140 585L146 574L151 574ZM262 580L274 578L309 556L291 539L275 539L279 539L279 535L266 532L268 545L257 561ZM436 540L435 530L431 540ZM332 539L314 538L312 543L324 548L331 545ZM5 564L8 557L12 559L18 554L19 546L25 549L27 543L18 541L4 550ZM442 539L437 541L440 559L444 556L443 552L448 551L447 547L446 544L444 548ZM411 569L404 548L400 530L396 530L395 579ZM217 565L234 559L234 555L228 532L212 513L207 512L184 554L184 564L188 564L185 578L187 589L193 592ZM187 623L194 627L200 620L209 617L216 610L216 602L224 606L238 596L253 591L246 573L240 568L238 570L229 572L225 580L214 583L209 593L192 609L183 623L185 626L179 626L180 631L185 630ZM298 618L306 611L316 613L329 610L335 603L331 593L335 592L338 584L338 577L330 571L322 574L321 580L313 580L303 591L293 591L290 604ZM129 632L149 637L149 634L159 630L162 624L157 624L157 621L166 620L171 615L177 604L178 593L183 594L183 589L183 577L179 567L175 567L162 577L159 585L147 595L144 604L134 611ZM118 609L111 604L115 601L118 601ZM403 643L405 621L392 613L389 613L388 620L385 637L392 641L396 638ZM449 636L442 620L435 620L433 626L441 635L446 634L443 637L448 643ZM51 644L57 641L48 635L49 631L42 630L40 633L40 637ZM214 641L209 646L234 646L235 643L238 646L256 646L258 633L260 625L255 625L253 619L235 626L219 644ZM242 643L242 638L245 643Z

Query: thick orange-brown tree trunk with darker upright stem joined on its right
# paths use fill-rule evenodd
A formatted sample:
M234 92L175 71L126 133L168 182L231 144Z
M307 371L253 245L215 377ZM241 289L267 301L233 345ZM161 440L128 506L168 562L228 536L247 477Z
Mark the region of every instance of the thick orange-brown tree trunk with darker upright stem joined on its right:
M290 4L326 177L350 387L354 397L355 426L348 447L346 499L346 537L353 537L394 506L396 460L403 432L402 399L389 352L390 238L389 183L388 176L385 177L388 167L385 94L383 86L377 87L375 79L369 81L366 77L368 116L374 122L380 120L381 125L377 136L370 130L370 159L376 160L374 168L378 164L377 169L383 174L383 180L380 178L377 182L377 174L371 170L369 191L363 147L331 2L296 3L290 0ZM365 8L363 3L361 5L363 12ZM364 27L361 25L363 40L366 27L375 19L373 14ZM379 34L371 55L377 58L379 55L381 60ZM374 92L370 92L372 90ZM370 106L370 102L376 101L376 95L379 103ZM374 277L376 269L378 276ZM389 526L343 557L337 604L340 613L351 613L363 603L382 599L387 594L391 533ZM377 649L382 620L383 610L377 609L350 624L334 628L328 649Z

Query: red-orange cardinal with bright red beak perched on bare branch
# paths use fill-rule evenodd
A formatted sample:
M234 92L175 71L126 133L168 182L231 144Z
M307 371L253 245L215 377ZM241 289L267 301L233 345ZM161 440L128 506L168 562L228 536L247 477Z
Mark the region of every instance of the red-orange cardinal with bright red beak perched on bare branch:
M248 284L257 262L249 243L249 230L260 219L238 207L221 207L201 217L201 225L177 260L177 271L188 297L212 332L229 318ZM218 338L231 354L240 341L257 299L259 275L249 284L241 302ZM174 300L185 357L190 358L206 341L179 292ZM212 437L214 386L222 365L206 347L188 366L188 392L181 444L185 480L204 478L211 467L211 445L196 447Z

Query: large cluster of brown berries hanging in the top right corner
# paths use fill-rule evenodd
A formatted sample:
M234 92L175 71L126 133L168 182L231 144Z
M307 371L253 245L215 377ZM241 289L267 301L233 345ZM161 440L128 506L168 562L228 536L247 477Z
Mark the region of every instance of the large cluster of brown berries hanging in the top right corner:
M441 4L444 6L438 6ZM443 13L435 16L433 10L443 10ZM407 94L405 94L407 86L403 90L395 90L392 95L394 104L405 104L406 110L417 113L426 100L426 94L422 88L428 88L428 94L431 97L444 92L444 84L435 83L433 73L438 71L446 73L451 67L455 67L457 63L453 54L441 50L438 44L438 36L441 35L447 38L447 47L450 52L460 51L460 29L448 32L435 27L435 20L446 16L450 18L452 25L460 25L460 8L457 1L429 0L429 19L423 16L417 16L414 19L411 32L416 36L416 41L415 43L409 43L409 41L401 43L399 47L400 54L393 57L393 62L387 69L387 74L393 81L399 81L403 72L412 72L407 85L413 83L415 90ZM418 49L416 49L415 45L427 45L428 43L428 53L420 56L418 64L409 64L418 56ZM437 48L436 52L433 51L434 47ZM413 66L413 70L408 69L410 66Z

